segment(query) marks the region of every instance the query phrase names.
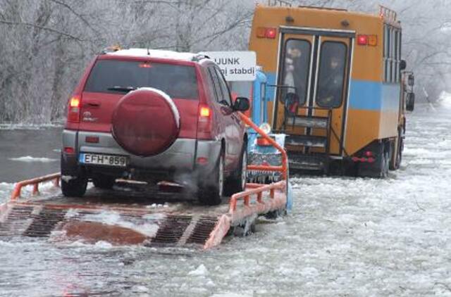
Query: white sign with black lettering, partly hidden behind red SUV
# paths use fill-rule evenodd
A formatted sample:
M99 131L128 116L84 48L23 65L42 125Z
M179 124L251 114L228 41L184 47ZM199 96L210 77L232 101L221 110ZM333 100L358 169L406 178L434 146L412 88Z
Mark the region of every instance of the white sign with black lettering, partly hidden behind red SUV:
M204 54L218 64L228 82L255 80L255 51L206 51Z

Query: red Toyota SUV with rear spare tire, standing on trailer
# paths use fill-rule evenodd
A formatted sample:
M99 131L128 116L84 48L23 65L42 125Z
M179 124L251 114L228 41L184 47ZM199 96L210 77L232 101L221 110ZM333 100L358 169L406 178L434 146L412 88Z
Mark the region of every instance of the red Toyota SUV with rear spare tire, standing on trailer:
M97 56L68 102L61 189L87 182L171 181L197 189L204 204L245 187L247 134L226 80L208 57L126 49Z

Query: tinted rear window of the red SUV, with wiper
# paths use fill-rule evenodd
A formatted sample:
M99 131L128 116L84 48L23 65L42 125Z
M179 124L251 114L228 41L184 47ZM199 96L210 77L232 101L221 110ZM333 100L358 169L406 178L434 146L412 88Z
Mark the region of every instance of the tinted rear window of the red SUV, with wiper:
M193 66L137 61L97 61L89 74L85 91L119 94L124 92L123 89L139 87L160 89L171 98L198 98Z

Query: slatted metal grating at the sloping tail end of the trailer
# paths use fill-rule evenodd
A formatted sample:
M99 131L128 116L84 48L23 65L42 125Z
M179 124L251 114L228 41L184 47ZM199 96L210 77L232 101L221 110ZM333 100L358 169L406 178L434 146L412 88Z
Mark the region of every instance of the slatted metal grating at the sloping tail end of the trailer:
M133 213L133 210L140 210ZM180 210L179 210L180 211ZM154 224L157 228L154 236L148 236L144 246L204 246L210 238L211 232L218 224L220 215L190 215L171 214L159 215L156 219L146 219L146 215L152 213L142 212L142 209L128 208L123 213L107 208L86 209L85 206L77 208L70 206L67 209L55 208L54 205L46 206L26 203L11 204L0 221L1 236L26 236L37 238L49 238L52 232L61 231L70 222L92 222L86 217L92 217L101 213L115 213L121 216L122 222L135 225Z

